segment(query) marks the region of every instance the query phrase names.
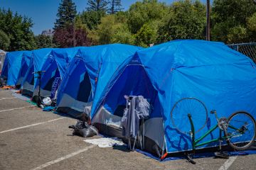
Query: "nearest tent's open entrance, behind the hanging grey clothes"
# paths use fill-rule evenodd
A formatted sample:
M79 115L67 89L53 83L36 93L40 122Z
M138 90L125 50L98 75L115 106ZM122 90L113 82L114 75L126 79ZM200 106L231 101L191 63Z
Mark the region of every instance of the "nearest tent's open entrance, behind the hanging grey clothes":
M99 109L92 116L92 123L104 135L122 137L121 120L126 106L127 96L144 96L152 106L150 118L145 120L145 150L159 157L164 150L163 119L157 91L151 84L145 69L140 64L127 65L119 77L110 82ZM125 140L125 139L124 139Z

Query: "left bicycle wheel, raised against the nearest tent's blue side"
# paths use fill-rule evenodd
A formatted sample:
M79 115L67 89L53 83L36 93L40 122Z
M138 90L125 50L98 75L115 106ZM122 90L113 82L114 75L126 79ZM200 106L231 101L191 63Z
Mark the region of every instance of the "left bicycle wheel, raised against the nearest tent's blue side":
M174 128L183 134L191 131L191 124L188 119L191 115L195 133L202 130L208 119L208 111L205 104L197 98L181 98L171 109L171 123Z

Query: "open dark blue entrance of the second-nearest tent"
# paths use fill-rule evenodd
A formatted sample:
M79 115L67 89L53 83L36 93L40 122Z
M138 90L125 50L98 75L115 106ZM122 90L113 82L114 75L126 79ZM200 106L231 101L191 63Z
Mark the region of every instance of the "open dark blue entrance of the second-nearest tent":
M75 58L70 63L57 96L57 111L81 118L82 113L90 113L92 85L85 67L85 61Z

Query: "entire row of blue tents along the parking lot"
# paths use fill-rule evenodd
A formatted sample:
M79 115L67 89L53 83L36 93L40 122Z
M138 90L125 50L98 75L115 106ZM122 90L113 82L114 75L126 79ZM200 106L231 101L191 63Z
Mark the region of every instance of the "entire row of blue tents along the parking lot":
M192 149L189 135L180 134L171 122L171 109L181 98L198 98L221 117L238 110L256 116L256 65L222 42L174 40L149 48L111 44L8 52L1 77L36 98L40 81L33 72L38 71L46 71L41 96L51 96L53 82L61 79L56 111L75 118L87 113L107 135L122 136L124 95L147 98L153 110L144 125L145 149L159 156ZM198 112L198 117L203 114ZM196 136L215 123L209 115L207 127ZM184 126L190 128L189 123ZM203 141L218 135L213 132Z

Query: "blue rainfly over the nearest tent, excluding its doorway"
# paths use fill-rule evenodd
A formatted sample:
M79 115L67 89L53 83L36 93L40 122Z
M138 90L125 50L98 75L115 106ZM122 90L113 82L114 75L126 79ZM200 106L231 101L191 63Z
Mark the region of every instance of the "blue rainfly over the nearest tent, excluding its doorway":
M217 110L219 117L228 117L231 113L240 110L247 111L256 117L256 65L249 57L230 49L222 42L175 40L139 50L134 57L126 60L122 67L132 62L142 64L151 86L154 87L154 90L151 89L152 93L153 91L157 93L154 114L151 116L163 119L164 141L169 153L191 149L189 133L181 134L171 122L171 109L181 98L198 98L205 103L209 111ZM124 74L122 67L108 82L107 88L100 86L99 93L95 94L92 118L102 101L107 100L106 96L112 95L108 94L110 90L116 94L119 93L118 91L125 90L120 89L122 86L115 86L120 82L117 81L120 79L120 74ZM108 65L104 71L107 73L111 69L111 65ZM103 75L98 77L100 81L105 81ZM128 73L127 76L131 74ZM110 104L115 102L114 100L116 98L110 98ZM176 120L180 120L176 124L191 129L190 123L181 116L183 115L174 115ZM198 125L203 124L203 117L206 115L198 112L196 116L198 120L194 124L197 128ZM196 138L215 124L215 116L208 113L207 125L196 133ZM215 130L202 142L218 138L218 135L219 131ZM210 143L202 148L215 145L218 144Z

